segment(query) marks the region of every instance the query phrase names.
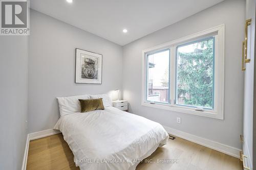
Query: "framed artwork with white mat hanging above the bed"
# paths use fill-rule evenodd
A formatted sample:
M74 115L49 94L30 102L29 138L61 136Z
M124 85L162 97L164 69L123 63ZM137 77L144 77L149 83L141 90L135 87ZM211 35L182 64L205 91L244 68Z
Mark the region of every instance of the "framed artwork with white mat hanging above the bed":
M75 83L101 84L102 55L76 48Z

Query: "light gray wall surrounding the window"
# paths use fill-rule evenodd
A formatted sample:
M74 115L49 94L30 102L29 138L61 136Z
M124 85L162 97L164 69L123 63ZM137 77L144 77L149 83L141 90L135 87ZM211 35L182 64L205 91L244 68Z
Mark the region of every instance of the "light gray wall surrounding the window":
M244 36L245 1L226 0L123 47L123 98L129 110L165 126L241 148L243 72L241 43ZM225 24L224 120L141 106L142 50ZM133 69L131 69L133 67ZM181 124L176 123L181 117Z

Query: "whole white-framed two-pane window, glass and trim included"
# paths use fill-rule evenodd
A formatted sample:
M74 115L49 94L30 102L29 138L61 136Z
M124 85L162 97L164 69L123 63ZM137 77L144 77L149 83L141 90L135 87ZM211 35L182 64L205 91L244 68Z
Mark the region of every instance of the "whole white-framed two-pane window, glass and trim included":
M144 50L142 105L223 119L224 30Z

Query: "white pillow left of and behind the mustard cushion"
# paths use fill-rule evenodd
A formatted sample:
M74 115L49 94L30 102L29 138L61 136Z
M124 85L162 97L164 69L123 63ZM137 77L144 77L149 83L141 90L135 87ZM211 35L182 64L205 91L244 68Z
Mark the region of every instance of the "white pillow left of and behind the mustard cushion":
M59 103L60 115L63 116L75 112L81 112L80 102L78 99L90 99L90 95L74 95L57 99Z

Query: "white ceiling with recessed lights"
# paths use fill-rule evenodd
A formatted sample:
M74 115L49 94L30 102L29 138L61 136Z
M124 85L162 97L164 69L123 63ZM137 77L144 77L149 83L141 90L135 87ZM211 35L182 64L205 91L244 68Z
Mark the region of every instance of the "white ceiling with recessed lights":
M224 0L31 0L30 8L119 45L216 5ZM122 30L127 29L127 33Z

